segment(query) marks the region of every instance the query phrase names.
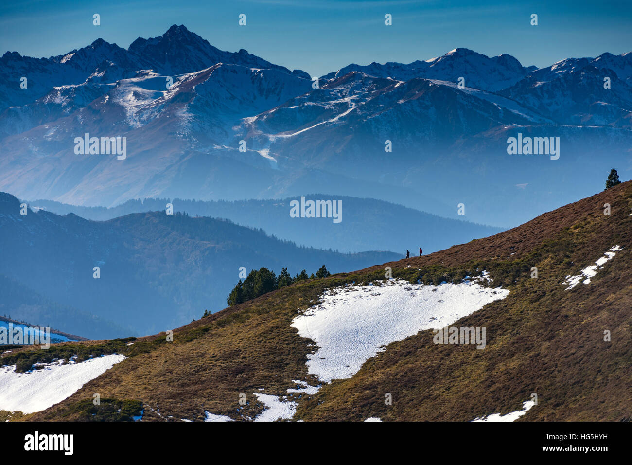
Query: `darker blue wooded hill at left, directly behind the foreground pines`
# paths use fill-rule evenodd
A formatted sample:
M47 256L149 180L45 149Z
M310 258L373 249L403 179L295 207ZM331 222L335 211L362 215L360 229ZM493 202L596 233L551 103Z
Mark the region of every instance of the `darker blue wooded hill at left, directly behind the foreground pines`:
M204 309L221 309L241 266L246 272L266 266L276 273L283 267L292 274L303 268L312 273L322 264L341 271L401 256L298 247L230 221L164 211L104 222L44 210L23 216L20 201L5 193L0 193L0 243L6 244L0 249L0 275L37 289L50 301L125 328L109 331L107 337L157 332L191 321ZM95 266L100 268L98 279ZM4 310L26 319L18 313L20 307ZM28 319L44 324L44 316L50 326L86 337L96 334L61 325L50 313ZM106 329L111 327L100 328L100 337Z

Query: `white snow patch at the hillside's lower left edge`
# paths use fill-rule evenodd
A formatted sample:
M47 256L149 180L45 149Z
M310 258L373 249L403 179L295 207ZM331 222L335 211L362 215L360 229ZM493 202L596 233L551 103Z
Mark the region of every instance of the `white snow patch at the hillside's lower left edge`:
M61 361L27 373L15 373L15 365L0 368L0 410L23 413L39 412L75 394L125 356L112 354L81 363Z

